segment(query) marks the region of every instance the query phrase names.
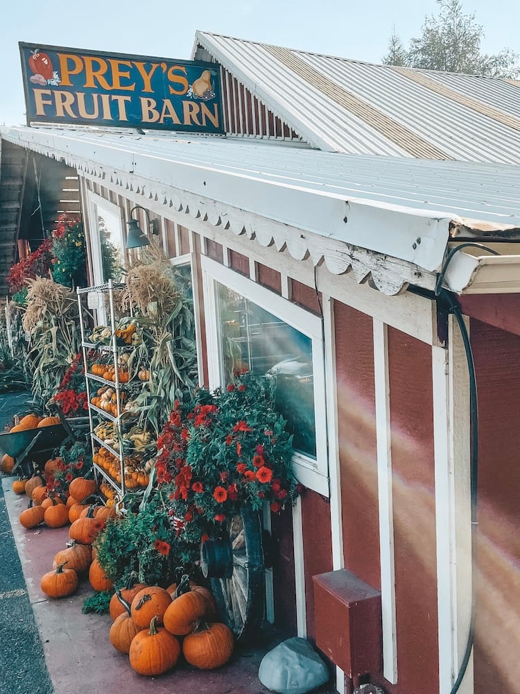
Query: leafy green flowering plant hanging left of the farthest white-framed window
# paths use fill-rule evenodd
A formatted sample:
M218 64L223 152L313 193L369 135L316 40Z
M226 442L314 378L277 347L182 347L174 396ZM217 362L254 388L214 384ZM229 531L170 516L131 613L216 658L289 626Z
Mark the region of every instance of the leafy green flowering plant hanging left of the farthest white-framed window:
M85 235L79 219L61 214L58 227L52 232L52 277L65 287L80 287L87 283Z

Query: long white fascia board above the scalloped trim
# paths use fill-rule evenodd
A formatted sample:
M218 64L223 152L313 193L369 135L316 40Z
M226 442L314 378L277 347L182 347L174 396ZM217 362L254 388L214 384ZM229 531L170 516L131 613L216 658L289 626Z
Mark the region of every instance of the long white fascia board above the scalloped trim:
M90 133L82 137L83 133L53 135L14 128L9 129L8 135L16 137L20 144L43 146L54 155L95 162L107 173L114 169L129 171L302 231L411 262L427 271L440 269L449 239L453 218L443 212L347 199L304 186L223 171L211 164L187 164L157 155L136 154L130 149L131 141L124 137L121 146L114 146L102 138L93 143Z

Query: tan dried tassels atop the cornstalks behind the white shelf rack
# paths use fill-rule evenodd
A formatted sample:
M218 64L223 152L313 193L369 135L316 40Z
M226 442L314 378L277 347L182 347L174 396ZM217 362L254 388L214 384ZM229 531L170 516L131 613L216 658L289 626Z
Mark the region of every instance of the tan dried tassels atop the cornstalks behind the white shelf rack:
M179 292L166 255L156 244L146 246L141 260L127 273L123 291L123 310L137 308L144 316L165 319L171 315Z

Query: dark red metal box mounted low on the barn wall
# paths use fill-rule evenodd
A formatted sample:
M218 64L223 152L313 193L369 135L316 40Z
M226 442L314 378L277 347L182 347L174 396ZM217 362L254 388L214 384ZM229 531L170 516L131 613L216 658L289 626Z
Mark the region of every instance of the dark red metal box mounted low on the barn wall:
M313 576L316 645L349 677L381 672L381 593L346 569Z

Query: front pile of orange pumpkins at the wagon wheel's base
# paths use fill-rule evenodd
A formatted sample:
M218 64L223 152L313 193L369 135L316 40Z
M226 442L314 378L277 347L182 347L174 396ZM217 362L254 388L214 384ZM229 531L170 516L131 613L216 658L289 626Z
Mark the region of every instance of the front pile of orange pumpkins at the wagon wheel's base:
M211 591L185 575L179 586L130 584L110 601L110 643L128 654L139 675L155 677L172 670L180 657L201 670L223 666L232 655L231 629L216 622Z

